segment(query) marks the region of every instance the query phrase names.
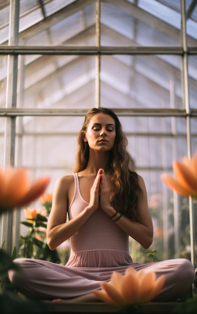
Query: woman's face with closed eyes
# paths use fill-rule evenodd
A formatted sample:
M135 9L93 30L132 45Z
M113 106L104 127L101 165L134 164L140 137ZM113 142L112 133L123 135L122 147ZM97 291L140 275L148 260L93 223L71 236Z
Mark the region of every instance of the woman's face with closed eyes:
M84 141L95 150L108 151L113 148L116 137L115 121L106 113L96 113L84 132Z

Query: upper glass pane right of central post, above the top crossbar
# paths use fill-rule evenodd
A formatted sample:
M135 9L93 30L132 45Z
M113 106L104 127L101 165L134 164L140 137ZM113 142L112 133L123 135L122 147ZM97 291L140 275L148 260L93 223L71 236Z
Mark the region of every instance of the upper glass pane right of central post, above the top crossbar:
M102 46L179 46L180 14L154 0L101 2Z

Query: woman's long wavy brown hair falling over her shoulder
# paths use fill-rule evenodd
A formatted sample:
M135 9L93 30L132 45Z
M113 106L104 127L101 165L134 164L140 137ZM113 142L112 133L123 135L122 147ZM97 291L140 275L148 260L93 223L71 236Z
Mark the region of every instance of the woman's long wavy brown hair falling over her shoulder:
M116 211L123 213L132 220L137 220L138 196L142 190L138 184L138 175L134 171L134 162L127 151L128 140L122 130L122 125L117 115L108 108L91 108L85 116L83 126L78 134L78 149L76 154L76 165L74 172L83 171L89 160L89 145L83 140L84 132L93 115L97 113L109 114L115 122L116 137L114 146L110 151L109 162L105 172L109 174L111 179L111 205Z

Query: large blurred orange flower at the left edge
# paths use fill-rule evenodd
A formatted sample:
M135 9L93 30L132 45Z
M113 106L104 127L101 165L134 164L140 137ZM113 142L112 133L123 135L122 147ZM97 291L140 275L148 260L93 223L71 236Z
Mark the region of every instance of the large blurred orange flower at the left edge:
M43 177L30 184L25 168L0 169L0 212L29 205L45 192L49 182L49 177Z

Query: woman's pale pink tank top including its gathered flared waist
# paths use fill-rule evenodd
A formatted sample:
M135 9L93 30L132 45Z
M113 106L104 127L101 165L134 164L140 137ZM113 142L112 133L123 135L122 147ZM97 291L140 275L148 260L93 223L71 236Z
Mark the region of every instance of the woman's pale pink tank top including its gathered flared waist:
M78 175L76 173L73 175L75 193L68 211L69 220L88 205L80 193ZM100 208L70 238L70 241L71 256L67 265L113 267L132 262L128 249L128 235Z

